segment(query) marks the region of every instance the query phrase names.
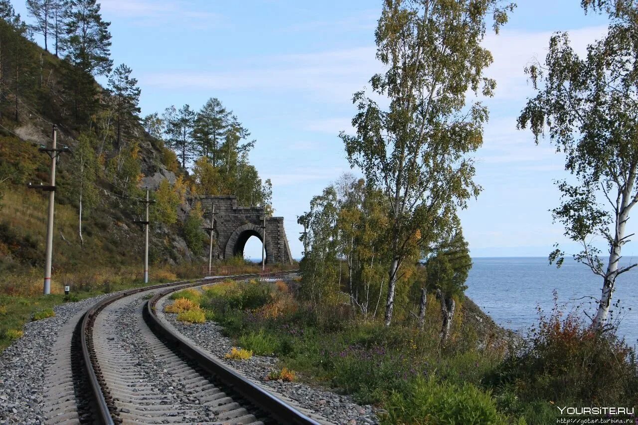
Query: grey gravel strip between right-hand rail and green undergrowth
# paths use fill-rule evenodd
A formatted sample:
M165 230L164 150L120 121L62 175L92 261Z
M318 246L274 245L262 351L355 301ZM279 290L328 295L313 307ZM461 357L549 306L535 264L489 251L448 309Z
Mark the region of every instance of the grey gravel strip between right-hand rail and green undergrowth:
M373 406L358 405L350 396L335 394L300 382L265 380L270 371L277 369L278 359L275 357L253 355L244 361L226 359L226 353L237 345L223 335L221 326L215 322L193 325L177 322L175 320L177 315L162 312L165 302L167 302L166 297L158 302L159 318L163 318L195 345L211 352L220 361L237 369L242 375L258 382L266 389L296 401L300 406L322 415L335 424L378 424L378 417Z

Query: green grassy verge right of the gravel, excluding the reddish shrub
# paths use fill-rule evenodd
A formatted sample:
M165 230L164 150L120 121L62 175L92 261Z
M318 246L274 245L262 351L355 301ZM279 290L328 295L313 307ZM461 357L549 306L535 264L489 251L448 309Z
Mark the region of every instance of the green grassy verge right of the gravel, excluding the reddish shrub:
M225 283L204 291L202 307L214 309L210 316L239 347L276 355L279 368L296 371L297 380L385 408L380 419L386 424L536 424L538 417L544 423L556 417L547 402L523 403L484 385L503 352L474 348L477 332L460 317L449 346L441 348L435 302L426 329L418 331L401 323L387 328L381 317L353 319L340 304L296 300L291 308L290 294L279 289Z

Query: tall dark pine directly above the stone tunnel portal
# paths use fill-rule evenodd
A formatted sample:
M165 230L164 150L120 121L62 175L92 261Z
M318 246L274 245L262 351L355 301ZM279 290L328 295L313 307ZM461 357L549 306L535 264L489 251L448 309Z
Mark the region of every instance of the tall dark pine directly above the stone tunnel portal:
M219 147L228 130L230 114L218 98L210 98L197 114L193 139L198 155L212 160L213 167L219 161Z

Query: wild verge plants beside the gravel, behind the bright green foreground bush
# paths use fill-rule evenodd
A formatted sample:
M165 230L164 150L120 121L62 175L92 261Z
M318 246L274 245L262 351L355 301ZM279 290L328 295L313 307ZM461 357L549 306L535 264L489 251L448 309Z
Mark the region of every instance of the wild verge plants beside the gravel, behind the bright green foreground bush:
M283 282L211 285L202 308L214 308L214 320L240 347L278 355L282 368L353 394L361 403L397 401L397 394L411 391L410 383L425 375L479 385L480 373L500 359L477 350L441 352L436 325L426 331L386 328L375 320L352 320L348 306L305 304ZM475 336L457 332L455 338ZM485 397L495 405L491 395Z

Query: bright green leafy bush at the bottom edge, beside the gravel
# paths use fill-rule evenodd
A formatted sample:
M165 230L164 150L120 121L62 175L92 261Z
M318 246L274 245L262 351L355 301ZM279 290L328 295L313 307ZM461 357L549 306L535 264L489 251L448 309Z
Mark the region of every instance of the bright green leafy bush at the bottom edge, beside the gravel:
M385 408L382 424L505 424L489 393L471 384L438 384L433 377L417 377L407 391L392 392Z

